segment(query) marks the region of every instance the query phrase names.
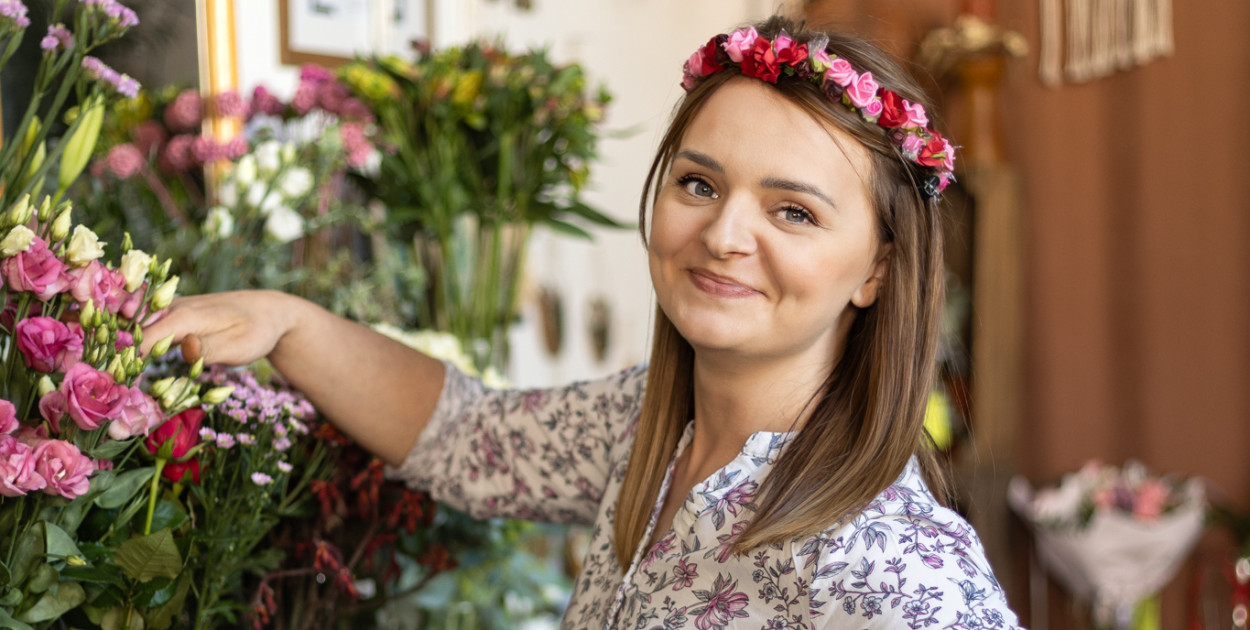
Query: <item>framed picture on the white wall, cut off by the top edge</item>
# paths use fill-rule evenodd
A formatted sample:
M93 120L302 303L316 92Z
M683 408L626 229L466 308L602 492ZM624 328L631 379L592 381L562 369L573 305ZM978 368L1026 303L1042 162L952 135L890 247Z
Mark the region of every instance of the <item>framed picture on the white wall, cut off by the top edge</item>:
M430 38L431 0L278 0L280 59L334 68Z

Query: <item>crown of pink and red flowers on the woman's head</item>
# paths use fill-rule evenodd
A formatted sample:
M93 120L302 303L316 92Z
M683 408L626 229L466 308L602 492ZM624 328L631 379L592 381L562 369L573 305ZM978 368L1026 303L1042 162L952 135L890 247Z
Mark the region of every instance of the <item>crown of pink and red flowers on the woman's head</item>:
M928 126L924 105L881 88L872 72L856 72L849 61L830 55L828 44L826 35L796 44L785 31L770 40L754 26L716 35L686 60L681 88L690 91L699 79L725 68L738 68L746 76L771 84L782 72L804 79L830 100L885 129L904 159L932 171L920 190L929 198L939 196L955 180L955 148Z

